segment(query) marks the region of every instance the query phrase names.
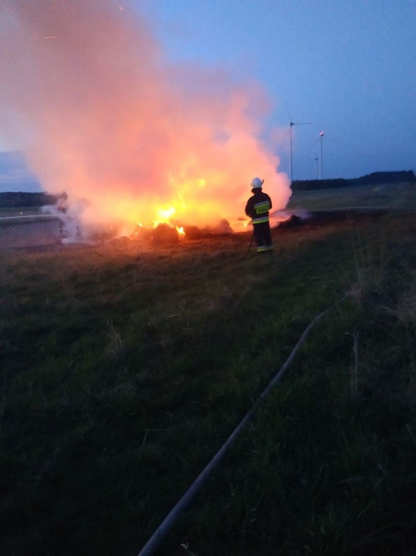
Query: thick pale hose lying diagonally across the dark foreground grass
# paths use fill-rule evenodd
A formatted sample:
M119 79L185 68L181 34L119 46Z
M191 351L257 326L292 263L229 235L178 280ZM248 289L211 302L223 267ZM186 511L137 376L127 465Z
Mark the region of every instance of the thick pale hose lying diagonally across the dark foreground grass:
M251 246L251 244L250 244ZM201 471L201 473L197 476L195 481L191 484L189 489L185 492L179 502L176 503L174 508L171 509L169 514L167 514L166 518L162 521L156 531L152 534L150 539L147 541L145 546L140 550L138 556L150 556L155 552L157 548L159 548L162 541L165 539L167 533L171 530L173 525L175 524L176 520L179 519L182 512L186 510L187 507L191 504L192 500L195 498L196 494L199 493L202 486L204 485L205 481L211 474L211 471L215 469L215 467L220 463L226 451L230 448L234 440L237 438L237 435L241 432L244 428L247 421L249 421L255 414L255 411L259 409L261 402L268 396L270 390L280 381L280 379L285 374L286 370L288 369L289 365L295 358L296 353L298 353L300 346L305 341L306 337L308 336L310 330L313 326L318 322L321 317L329 311L331 307L325 309L325 311L321 312L318 316L314 318L313 321L310 322L309 326L306 327L303 334L300 336L298 342L296 343L294 349L291 351L288 359L286 359L284 365L278 371L278 373L274 376L273 380L269 383L269 385L263 390L260 394L259 398L255 401L254 405L250 409L250 411L244 416L244 418L240 421L240 424L236 426L234 431L230 434L229 438L225 441L225 443L221 446L221 448L217 451L214 457L211 459L209 464Z

